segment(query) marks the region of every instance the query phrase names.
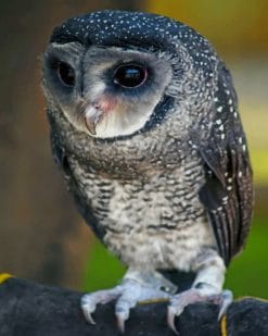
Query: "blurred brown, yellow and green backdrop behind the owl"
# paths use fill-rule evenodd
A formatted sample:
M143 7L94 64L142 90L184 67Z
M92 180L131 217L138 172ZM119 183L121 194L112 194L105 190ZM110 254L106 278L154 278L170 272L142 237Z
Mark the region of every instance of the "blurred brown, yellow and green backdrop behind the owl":
M255 172L256 204L244 252L228 272L235 296L268 298L267 0L0 2L0 272L67 286L115 285L124 266L78 216L49 144L40 58L52 28L100 9L141 10L206 36L233 74Z

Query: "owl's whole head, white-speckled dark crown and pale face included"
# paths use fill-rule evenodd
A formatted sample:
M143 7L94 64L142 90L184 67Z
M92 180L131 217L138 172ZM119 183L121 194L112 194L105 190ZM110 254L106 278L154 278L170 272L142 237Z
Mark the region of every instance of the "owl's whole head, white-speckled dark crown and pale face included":
M213 54L203 37L171 18L94 12L54 29L43 57L44 92L51 110L95 138L156 127L181 105L187 125L213 88Z

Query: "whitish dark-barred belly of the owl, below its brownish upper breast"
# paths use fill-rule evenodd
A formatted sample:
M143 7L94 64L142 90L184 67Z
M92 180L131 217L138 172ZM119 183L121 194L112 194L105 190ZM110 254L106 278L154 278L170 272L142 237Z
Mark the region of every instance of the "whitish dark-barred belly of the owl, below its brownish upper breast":
M104 228L104 244L125 264L189 270L204 247L215 246L197 198L197 162L124 181L89 173L77 161L74 166L80 192Z

